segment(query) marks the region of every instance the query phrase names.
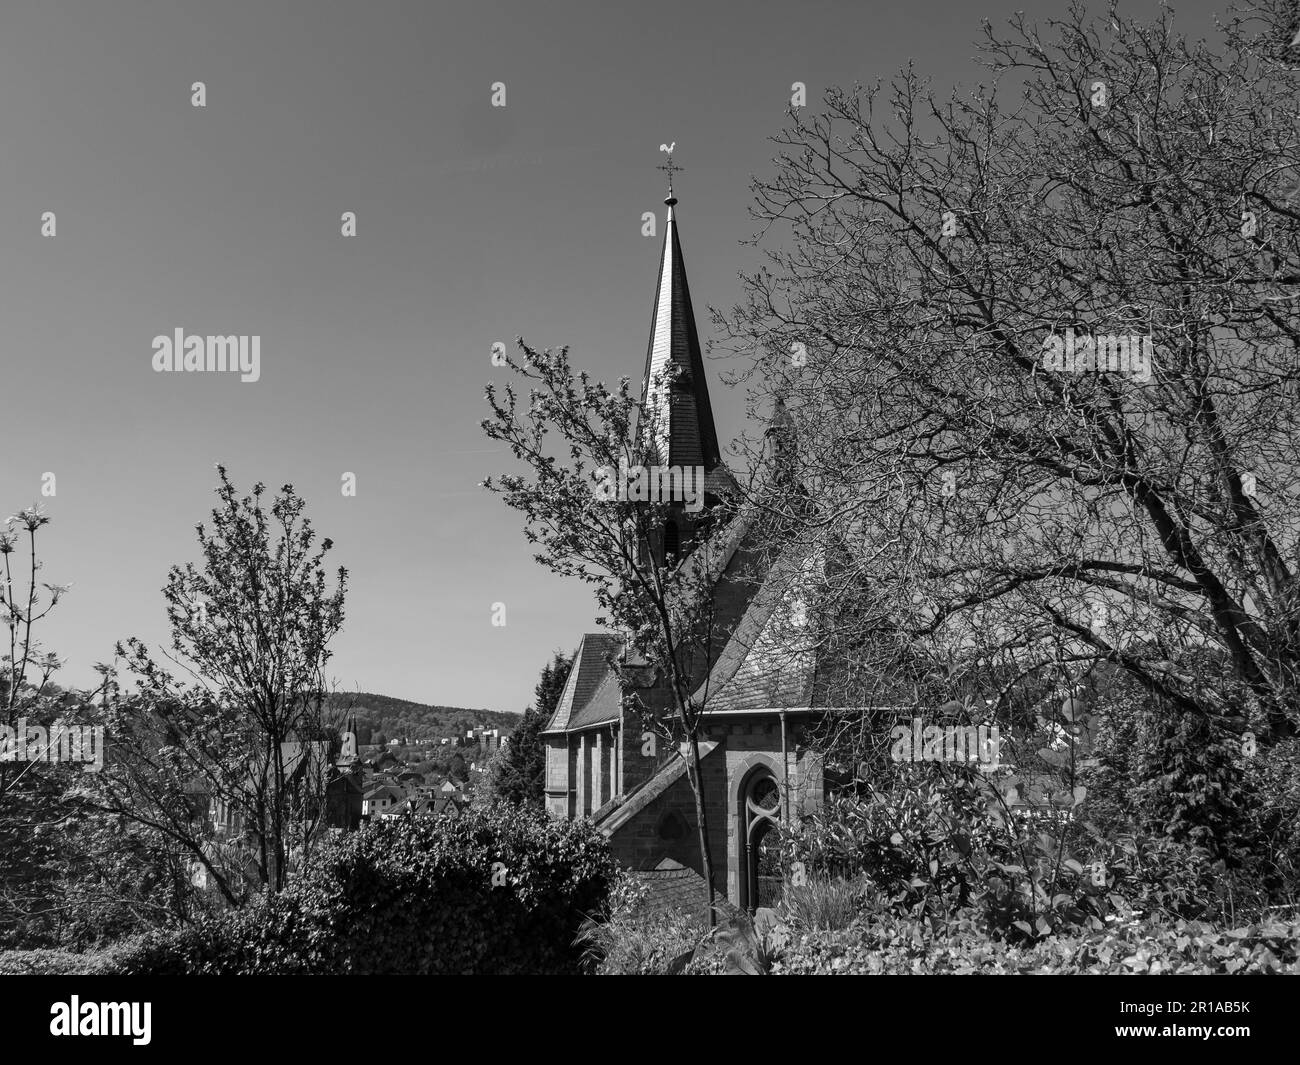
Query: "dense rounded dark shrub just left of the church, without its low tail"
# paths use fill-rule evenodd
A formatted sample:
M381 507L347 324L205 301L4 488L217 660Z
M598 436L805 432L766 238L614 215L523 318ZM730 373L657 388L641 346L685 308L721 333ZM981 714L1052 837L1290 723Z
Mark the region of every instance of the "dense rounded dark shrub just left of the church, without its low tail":
M299 895L341 971L572 973L614 875L590 826L497 808L347 836Z

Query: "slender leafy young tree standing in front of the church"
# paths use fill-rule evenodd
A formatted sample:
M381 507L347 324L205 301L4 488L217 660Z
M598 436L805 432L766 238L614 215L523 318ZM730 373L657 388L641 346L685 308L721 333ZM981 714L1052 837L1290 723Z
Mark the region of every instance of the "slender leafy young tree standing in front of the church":
M611 389L575 375L567 348L537 351L523 339L519 348L520 358L507 359L507 365L529 389L526 406L514 384L500 395L489 385L491 417L482 425L491 440L510 446L525 472L484 484L524 515L525 536L540 549L537 562L589 584L601 610L598 623L628 635L625 657L610 664L629 698L640 700L640 690L651 687L663 692L666 707L642 701L638 709L647 727L673 748L684 745L712 921L714 865L699 769L707 694L699 685L724 636L712 592L725 523L702 529L692 554L679 559L660 540L672 503L620 498L625 493L611 493L606 476L655 464L662 404L654 397L680 388L680 371L656 376L642 406L627 377Z

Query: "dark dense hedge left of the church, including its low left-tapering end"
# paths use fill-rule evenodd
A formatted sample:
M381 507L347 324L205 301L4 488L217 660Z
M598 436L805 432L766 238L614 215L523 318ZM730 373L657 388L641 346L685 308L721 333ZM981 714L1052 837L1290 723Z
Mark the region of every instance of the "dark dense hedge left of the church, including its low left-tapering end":
M385 821L326 847L278 899L150 938L126 973L577 973L615 867L585 823L512 808Z

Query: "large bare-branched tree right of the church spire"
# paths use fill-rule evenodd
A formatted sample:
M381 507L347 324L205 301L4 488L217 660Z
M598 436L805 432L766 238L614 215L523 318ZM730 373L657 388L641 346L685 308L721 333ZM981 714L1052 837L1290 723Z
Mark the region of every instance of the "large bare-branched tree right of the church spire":
M788 407L845 659L1008 687L1110 662L1221 730L1295 730L1290 20L1212 51L1075 4L985 23L988 87L909 69L792 112L754 185L770 265L715 320Z

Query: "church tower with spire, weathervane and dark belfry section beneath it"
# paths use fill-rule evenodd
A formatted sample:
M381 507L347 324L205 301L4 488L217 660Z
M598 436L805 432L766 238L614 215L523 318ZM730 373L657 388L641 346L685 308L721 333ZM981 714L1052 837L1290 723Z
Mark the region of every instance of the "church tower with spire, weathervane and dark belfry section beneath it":
M672 163L659 169L668 172L668 221L659 256L659 283L655 289L654 313L650 319L650 346L641 382L642 410L650 415L638 429L638 450L646 466L703 467L705 506L688 511L685 505L672 507L672 515L659 531L654 550L685 558L707 529L710 511L734 492L734 481L723 466L718 447L714 411L708 403L708 381L696 330L696 312L686 285L686 267L681 257L672 194L672 174L680 170ZM672 377L672 384L666 380Z

